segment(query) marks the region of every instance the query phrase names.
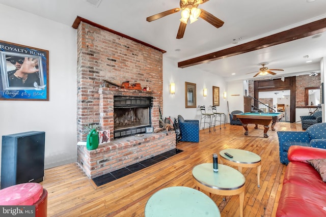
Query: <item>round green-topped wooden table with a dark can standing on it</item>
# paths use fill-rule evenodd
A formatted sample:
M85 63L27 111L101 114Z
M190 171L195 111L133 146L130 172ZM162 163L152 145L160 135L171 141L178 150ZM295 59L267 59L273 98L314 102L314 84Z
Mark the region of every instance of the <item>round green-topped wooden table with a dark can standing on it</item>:
M209 195L239 195L240 216L243 216L243 201L246 179L236 169L219 164L219 172L213 172L213 164L205 163L194 167L193 178L198 190Z

